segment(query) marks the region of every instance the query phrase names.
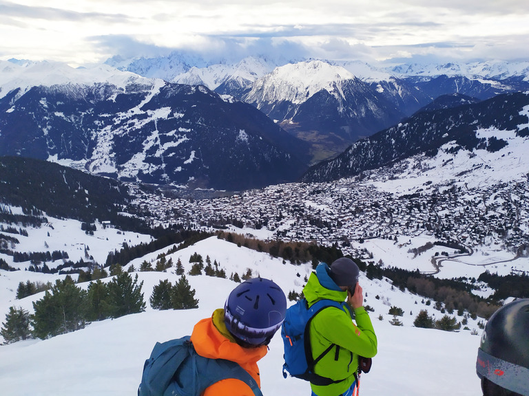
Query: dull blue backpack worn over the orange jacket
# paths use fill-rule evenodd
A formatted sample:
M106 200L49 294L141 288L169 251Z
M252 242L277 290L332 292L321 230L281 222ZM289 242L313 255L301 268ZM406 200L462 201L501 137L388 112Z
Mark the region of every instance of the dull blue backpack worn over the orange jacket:
M156 342L145 361L138 396L199 396L208 386L226 378L245 382L262 396L253 377L236 362L208 359L196 353L189 336Z

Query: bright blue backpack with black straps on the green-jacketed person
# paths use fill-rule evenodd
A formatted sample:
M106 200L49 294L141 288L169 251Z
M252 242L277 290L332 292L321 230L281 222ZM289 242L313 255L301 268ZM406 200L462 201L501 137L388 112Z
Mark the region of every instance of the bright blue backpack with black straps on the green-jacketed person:
M346 303L338 303L333 300L319 300L311 305L302 298L287 309L281 327L281 336L284 344L283 377L287 378L287 372L292 377L311 382L311 384L326 386L342 382L343 380L331 380L314 373L314 366L324 355L329 353L336 344L331 344L318 358L312 357L311 342L309 338L309 325L311 320L322 309L336 307L347 310ZM338 346L336 346L338 348Z

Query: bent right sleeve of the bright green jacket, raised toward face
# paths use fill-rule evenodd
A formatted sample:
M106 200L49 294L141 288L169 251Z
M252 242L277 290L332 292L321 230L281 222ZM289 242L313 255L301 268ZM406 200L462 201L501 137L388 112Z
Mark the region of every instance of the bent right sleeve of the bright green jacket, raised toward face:
M356 325L344 311L331 307L316 315L313 325L332 344L364 358L373 358L377 354L377 336L364 307L355 309L355 320Z

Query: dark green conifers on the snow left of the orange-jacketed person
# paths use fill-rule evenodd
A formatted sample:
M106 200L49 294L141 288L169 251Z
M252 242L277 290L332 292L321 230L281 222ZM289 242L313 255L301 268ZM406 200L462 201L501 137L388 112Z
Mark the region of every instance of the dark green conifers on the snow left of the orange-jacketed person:
M83 329L90 322L119 318L145 311L143 281L138 283L128 273L114 269L112 280L103 283L101 279L92 281L87 290L81 289L66 276L57 280L45 291L43 298L33 303L34 313L30 314L21 307L10 307L6 322L2 323L0 335L6 344L28 338L51 338L59 334ZM28 290L30 289L30 290ZM17 298L33 294L37 286L21 283ZM181 276L175 285L169 281L160 281L153 289L149 303L154 309L189 309L198 307L185 276Z

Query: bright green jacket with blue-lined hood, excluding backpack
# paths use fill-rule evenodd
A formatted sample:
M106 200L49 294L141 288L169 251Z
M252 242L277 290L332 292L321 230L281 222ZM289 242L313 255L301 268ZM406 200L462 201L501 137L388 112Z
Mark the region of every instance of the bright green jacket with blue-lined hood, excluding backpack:
M309 306L322 299L342 302L347 298L347 292L342 291L329 276L329 266L325 263L320 263L315 273L311 274L303 288L303 294ZM331 344L340 347L338 355L335 347L315 365L315 373L333 380L345 379L327 386L311 384L312 391L318 396L338 396L344 393L355 381L358 355L373 358L377 354L377 336L369 315L364 307L355 309L354 314L356 325L350 311L329 307L311 322L309 331L314 358Z

